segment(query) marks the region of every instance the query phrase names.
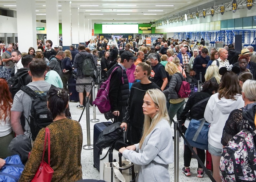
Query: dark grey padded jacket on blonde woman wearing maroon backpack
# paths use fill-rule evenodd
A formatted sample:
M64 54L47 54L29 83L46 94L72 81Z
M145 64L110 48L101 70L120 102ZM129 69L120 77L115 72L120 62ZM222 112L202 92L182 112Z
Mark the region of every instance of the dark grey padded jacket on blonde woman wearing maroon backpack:
M169 84L169 88L167 88L166 90L163 91L163 93L165 94L166 98L168 96L168 100L170 99L179 99L178 96L178 91L181 88L181 84L182 84L182 79L181 76L184 80L184 77L181 73L175 73L172 75L171 80L170 80L170 84Z

